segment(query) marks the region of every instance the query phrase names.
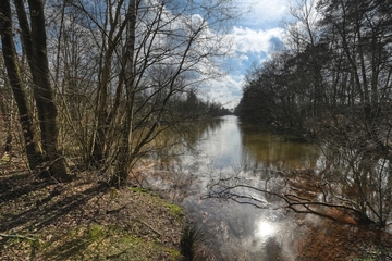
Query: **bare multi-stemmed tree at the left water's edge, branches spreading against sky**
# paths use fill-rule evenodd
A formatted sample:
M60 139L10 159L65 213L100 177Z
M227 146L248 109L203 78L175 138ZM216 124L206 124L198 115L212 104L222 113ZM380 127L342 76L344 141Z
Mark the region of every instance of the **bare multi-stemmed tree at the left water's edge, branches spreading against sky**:
M229 47L222 33L237 14L231 1L222 0L108 1L94 7L73 1L63 10L64 21L77 13L78 26L88 30L82 39L99 59L91 69L98 74L96 88L90 87L96 111L89 122L90 164L111 171L119 185L154 150L160 132L183 122L173 101L219 75L213 67Z

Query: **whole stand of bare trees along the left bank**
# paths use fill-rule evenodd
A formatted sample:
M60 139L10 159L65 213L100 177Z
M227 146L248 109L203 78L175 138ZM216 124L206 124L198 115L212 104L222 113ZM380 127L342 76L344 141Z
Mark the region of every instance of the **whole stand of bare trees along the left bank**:
M121 186L159 133L224 113L196 94L234 14L222 0L1 1L0 108L7 128L17 109L32 172L66 182L73 159Z

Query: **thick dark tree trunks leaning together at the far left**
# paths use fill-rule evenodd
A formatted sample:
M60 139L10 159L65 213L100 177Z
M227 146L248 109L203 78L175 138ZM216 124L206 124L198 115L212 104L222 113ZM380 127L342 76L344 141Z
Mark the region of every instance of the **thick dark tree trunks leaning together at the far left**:
M26 96L19 73L17 55L13 42L12 15L10 1L2 5L2 46L8 75L19 105L29 165L35 169L40 161L45 161L53 177L59 181L70 179L64 158L58 151L57 107L54 104L53 89L51 87L49 63L47 57L47 37L44 15L44 3L39 0L28 1L29 17L23 1L15 1L19 25L22 35L22 46L33 77L35 104L40 126L40 141L44 153L37 151L37 138L34 137L33 119L26 103ZM5 51L5 53L4 53ZM37 160L38 158L38 160ZM41 158L41 159L39 159Z

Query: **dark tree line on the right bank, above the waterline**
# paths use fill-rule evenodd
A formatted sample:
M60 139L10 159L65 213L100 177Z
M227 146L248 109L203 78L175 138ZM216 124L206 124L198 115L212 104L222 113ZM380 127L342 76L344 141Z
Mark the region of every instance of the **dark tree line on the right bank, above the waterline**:
M333 127L385 146L391 127L391 4L301 0L285 23L284 47L249 70L236 113L298 135Z

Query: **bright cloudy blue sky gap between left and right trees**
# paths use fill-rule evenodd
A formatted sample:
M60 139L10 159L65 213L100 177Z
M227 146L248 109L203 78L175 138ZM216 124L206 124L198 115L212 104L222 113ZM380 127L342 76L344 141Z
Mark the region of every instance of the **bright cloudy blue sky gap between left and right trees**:
M289 15L290 0L240 0L237 5L245 14L230 33L234 39L233 54L226 61L231 69L200 90L201 97L228 109L240 102L247 70L268 59L282 40L281 22Z

